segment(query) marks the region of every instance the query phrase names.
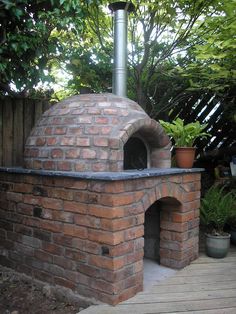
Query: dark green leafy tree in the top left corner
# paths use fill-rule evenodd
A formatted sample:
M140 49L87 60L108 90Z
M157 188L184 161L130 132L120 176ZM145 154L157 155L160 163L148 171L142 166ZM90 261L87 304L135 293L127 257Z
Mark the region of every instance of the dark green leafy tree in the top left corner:
M63 51L60 33L79 36L89 0L0 0L0 91L25 95L50 82L49 60Z

